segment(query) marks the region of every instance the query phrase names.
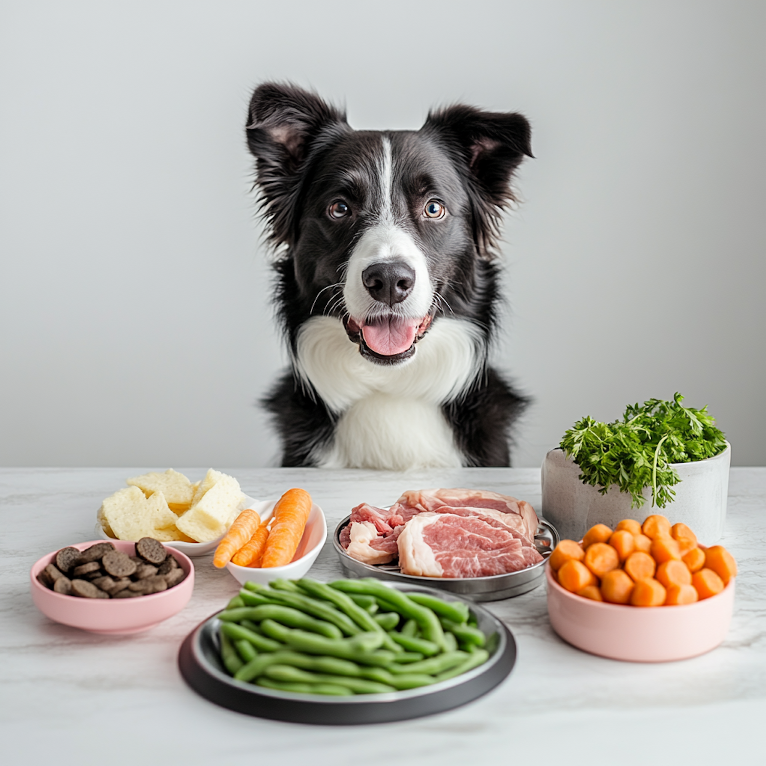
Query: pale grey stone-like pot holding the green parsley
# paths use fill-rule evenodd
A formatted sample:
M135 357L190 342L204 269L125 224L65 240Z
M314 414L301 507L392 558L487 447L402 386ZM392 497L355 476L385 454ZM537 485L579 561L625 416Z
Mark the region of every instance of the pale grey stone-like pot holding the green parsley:
M601 495L596 487L582 483L580 466L560 449L551 450L542 462L542 516L561 539L579 540L594 524L614 525L622 519L643 522L650 513L667 516L672 524L691 527L702 545L714 545L723 535L728 494L728 468L732 445L715 457L695 463L672 463L681 478L673 489L676 497L664 509L652 507L652 490L644 488L647 502L630 507L630 494L616 485Z

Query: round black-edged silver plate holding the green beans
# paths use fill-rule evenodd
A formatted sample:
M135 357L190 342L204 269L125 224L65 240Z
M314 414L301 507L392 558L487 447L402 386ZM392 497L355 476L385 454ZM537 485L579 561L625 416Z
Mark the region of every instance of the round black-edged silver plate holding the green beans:
M463 601L433 588L407 583L387 583L404 592L437 595L445 601ZM481 630L495 643L489 660L455 678L403 692L319 697L282 692L237 681L221 665L218 653L219 620L203 620L185 638L178 651L178 668L186 683L199 695L221 707L259 718L318 725L358 725L420 718L465 705L499 685L516 663L516 640L497 617L483 607L469 604ZM495 638L496 637L496 638Z

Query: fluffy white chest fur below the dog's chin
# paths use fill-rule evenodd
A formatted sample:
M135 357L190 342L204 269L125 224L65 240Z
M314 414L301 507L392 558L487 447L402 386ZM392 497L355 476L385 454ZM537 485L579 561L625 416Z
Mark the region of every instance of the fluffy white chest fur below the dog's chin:
M480 331L440 317L401 365L359 354L342 322L314 316L300 329L296 368L339 416L334 441L313 456L324 468L408 470L463 464L441 405L457 398L483 363Z

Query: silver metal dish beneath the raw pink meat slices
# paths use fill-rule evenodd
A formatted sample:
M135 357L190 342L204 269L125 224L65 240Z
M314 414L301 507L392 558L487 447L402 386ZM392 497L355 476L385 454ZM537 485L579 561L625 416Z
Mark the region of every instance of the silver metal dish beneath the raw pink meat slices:
M516 572L508 572L505 575L489 575L489 577L470 578L434 578L418 577L417 575L404 575L397 565L391 564L365 564L357 561L345 552L340 544L340 533L345 525L349 524L351 516L336 526L332 535L332 545L336 549L341 566L346 575L352 577L375 577L379 580L391 580L407 582L412 585L425 585L427 588L437 588L460 596L470 598L472 601L500 601L502 598L520 596L537 588L545 581L545 561L558 545L558 532L554 525L545 519L538 519L537 534L535 535L535 548L542 555L542 561L531 567Z

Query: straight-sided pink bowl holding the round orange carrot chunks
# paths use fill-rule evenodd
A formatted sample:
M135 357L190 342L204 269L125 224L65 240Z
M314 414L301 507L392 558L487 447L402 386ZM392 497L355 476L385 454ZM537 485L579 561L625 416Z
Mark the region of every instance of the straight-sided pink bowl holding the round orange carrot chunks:
M734 579L717 596L679 607L630 607L593 601L561 588L545 565L548 617L573 647L635 663L686 660L715 649L728 633Z

